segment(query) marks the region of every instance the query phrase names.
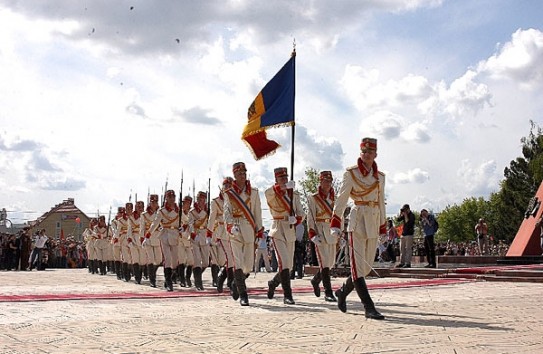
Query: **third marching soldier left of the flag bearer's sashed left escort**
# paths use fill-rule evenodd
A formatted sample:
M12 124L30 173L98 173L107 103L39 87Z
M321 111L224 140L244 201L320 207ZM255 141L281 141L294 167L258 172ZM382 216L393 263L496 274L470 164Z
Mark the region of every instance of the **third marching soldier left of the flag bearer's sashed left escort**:
M192 252L192 242L190 241L189 212L192 204L192 198L185 196L181 204L181 228L179 230L179 244L177 246L177 257L179 265L177 266L177 277L181 287L191 287L190 277L192 267L194 266L194 255ZM186 272L186 273L185 273ZM185 276L186 274L186 276Z

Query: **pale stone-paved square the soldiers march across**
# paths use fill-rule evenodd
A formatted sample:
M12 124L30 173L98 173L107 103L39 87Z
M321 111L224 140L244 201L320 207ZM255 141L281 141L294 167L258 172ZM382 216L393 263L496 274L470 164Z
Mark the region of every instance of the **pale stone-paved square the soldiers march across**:
M375 321L364 317L356 292L346 314L316 298L310 277L293 281L296 305L283 305L280 290L269 300L272 275L250 276L251 306L241 307L211 289L167 293L84 269L1 272L0 352L543 353L541 284L371 278L386 316ZM67 299L43 301L45 294ZM111 298L93 298L100 294Z

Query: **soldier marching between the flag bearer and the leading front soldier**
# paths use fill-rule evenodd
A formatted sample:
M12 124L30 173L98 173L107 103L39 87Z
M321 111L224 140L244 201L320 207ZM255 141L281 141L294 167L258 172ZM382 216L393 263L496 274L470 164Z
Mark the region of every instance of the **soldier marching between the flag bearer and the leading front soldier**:
M330 269L334 267L336 260L337 238L330 234L330 220L334 209L334 189L332 188L332 172L322 171L319 175L319 190L311 195L308 200L307 227L309 238L315 244L319 271L313 279L313 292L315 296L321 295L319 284L322 280L324 287L324 300L337 301L332 291L330 281Z

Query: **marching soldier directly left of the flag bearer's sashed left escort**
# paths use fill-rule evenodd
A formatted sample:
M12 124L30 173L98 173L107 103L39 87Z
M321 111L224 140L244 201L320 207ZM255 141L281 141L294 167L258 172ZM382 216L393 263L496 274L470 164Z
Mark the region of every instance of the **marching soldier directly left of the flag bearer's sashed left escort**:
M219 196L211 202L209 221L207 222L207 232L216 240L218 248L218 264L221 267L217 275L217 291L222 293L224 281L226 286L232 292L232 281L234 280L234 258L230 240L224 224L224 193L232 187L232 177L226 177L222 182L222 190ZM237 289L236 289L237 292ZM239 296L239 295L238 295ZM236 296L236 300L237 300Z

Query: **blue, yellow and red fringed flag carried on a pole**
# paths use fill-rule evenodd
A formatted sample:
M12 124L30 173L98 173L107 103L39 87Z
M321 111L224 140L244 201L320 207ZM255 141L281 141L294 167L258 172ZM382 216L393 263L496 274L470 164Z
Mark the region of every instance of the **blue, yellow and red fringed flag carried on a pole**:
M293 52L290 60L256 96L247 112L249 122L243 129L241 139L256 160L273 154L280 146L268 140L268 128L294 125L295 59L296 53Z

